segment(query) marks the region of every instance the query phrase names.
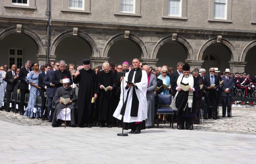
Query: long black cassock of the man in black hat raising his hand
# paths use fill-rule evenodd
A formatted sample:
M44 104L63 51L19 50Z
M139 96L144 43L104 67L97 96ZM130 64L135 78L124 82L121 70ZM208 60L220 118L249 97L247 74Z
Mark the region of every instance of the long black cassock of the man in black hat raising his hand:
M89 69L79 70L80 74L73 78L75 84L79 83L78 98L77 98L77 114L78 124L83 126L85 123L91 123L92 121L92 97L95 93L98 93L97 76L96 73Z

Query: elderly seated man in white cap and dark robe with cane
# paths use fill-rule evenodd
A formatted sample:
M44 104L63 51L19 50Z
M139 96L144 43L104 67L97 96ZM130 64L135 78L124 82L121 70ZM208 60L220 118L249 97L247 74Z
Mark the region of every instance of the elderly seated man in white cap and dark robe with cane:
M76 93L75 90L69 86L70 79L68 77L64 77L62 82L63 87L57 89L53 99L57 105L52 117L52 127L58 127L60 125L60 120L65 120L65 117L66 120L71 121L70 126L75 127L74 108L76 106ZM65 105L60 97L64 99L70 98L70 101Z

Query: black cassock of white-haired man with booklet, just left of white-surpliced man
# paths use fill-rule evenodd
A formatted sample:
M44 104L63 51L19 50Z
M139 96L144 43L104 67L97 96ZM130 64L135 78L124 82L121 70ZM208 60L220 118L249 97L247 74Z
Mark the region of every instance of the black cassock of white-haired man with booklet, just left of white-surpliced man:
M99 107L99 115L98 119L99 121L107 121L108 123L111 123L113 121L113 114L115 111L115 107L113 106L113 96L115 94L115 88L116 85L114 83L115 81L115 75L114 72L109 71L108 73L105 73L104 71L100 71L97 74L98 76L98 87L100 88L100 85L103 85L105 88L108 86L113 87L112 91L104 89L100 90L100 96L96 103L98 103ZM102 125L104 126L104 124Z

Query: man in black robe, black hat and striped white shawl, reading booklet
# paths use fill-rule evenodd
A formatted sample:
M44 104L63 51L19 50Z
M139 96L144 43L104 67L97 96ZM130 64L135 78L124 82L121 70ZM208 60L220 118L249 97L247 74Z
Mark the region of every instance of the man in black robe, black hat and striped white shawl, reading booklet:
M183 73L172 82L172 89L176 91L179 129L184 129L186 121L186 129L192 130L193 117L196 114L196 93L199 92L200 86L196 77L190 74L188 63L184 64L182 69ZM190 85L190 88L184 91L186 89L183 90L182 85Z

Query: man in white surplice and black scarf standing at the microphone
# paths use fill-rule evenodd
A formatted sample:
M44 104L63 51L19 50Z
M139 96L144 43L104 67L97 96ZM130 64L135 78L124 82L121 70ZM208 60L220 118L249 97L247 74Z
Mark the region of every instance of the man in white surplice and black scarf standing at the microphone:
M131 69L121 83L121 96L118 107L114 112L114 117L121 120L124 112L124 126L129 133L139 134L140 130L145 129L147 119L147 98L148 75L146 71L139 69L139 59L133 59ZM128 83L127 83L128 82ZM136 85L134 85L134 84ZM124 108L123 107L123 87L124 87ZM123 110L124 109L124 110Z

